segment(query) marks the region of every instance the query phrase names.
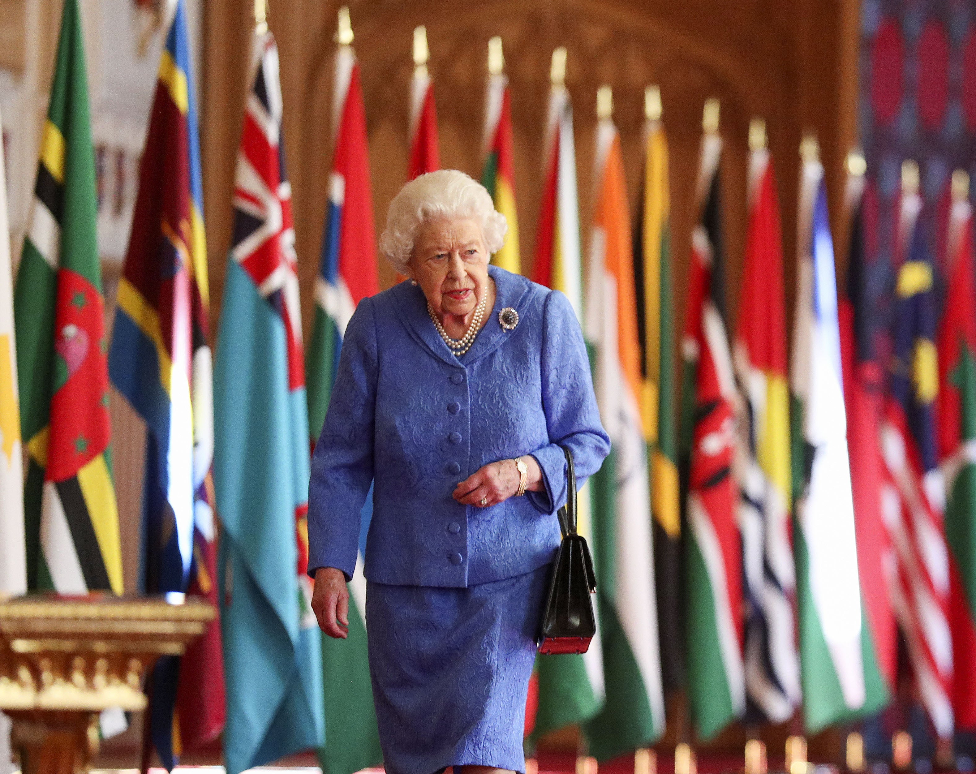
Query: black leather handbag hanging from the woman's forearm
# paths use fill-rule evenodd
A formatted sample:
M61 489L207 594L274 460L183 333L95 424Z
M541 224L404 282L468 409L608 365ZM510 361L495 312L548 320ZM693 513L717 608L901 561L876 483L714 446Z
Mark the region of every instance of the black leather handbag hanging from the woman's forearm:
M549 593L543 606L539 652L586 653L596 633L591 594L596 575L587 539L576 532L576 470L573 453L565 446L566 505L558 510L562 542L552 563Z

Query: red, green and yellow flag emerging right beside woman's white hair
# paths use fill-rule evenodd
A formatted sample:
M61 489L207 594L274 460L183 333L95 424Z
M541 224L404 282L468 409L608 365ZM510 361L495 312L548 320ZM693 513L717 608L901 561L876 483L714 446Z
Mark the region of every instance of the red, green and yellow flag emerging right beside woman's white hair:
M481 184L491 194L495 209L505 216L508 232L505 245L492 263L520 274L522 260L518 252L518 213L515 210L515 159L511 138L511 90L508 75L502 72L488 76L485 91L484 165Z

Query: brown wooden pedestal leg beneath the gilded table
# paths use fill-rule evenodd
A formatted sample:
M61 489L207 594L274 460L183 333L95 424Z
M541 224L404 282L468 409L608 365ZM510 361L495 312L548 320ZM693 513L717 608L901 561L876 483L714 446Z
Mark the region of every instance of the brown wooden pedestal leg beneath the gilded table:
M23 774L83 774L99 752L99 713L8 711Z

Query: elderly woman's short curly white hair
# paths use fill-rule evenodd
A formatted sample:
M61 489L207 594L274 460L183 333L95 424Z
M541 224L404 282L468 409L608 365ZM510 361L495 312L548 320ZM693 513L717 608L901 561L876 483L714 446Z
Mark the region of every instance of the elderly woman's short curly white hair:
M440 219L475 221L481 226L489 255L505 244L508 223L495 209L487 188L464 172L442 169L415 178L393 197L380 236L380 251L393 268L408 273L407 264L421 227Z

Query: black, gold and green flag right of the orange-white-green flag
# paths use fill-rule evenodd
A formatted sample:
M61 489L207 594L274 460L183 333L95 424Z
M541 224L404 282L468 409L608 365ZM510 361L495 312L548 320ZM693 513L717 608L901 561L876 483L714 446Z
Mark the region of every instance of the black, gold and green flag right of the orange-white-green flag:
M660 120L644 128L644 169L633 229L633 277L640 340L640 417L648 441L658 635L664 686L684 684L681 507L674 394L671 189L668 137Z

